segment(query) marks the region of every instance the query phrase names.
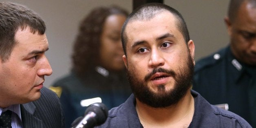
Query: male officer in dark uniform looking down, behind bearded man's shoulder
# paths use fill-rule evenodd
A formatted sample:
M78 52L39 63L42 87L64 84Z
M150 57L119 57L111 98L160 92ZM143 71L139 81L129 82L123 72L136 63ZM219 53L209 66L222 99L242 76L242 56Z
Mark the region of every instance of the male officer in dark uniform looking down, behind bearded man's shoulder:
M210 104L228 104L255 128L256 1L231 0L225 24L230 45L196 62L193 89Z

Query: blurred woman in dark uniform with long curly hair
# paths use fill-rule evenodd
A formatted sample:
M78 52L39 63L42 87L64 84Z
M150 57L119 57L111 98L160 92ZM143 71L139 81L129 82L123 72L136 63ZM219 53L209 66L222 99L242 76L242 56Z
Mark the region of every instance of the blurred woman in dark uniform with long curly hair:
M67 128L84 116L89 104L102 102L110 109L131 94L120 35L127 15L116 6L97 7L82 20L73 49L72 71L51 87L60 96Z

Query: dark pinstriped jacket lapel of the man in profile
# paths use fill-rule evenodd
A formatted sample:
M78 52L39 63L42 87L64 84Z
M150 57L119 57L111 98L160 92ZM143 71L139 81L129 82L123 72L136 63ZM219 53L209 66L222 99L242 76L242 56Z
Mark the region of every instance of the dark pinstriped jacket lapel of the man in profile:
M24 128L43 128L42 120L38 119L35 113L33 102L20 105L22 124Z

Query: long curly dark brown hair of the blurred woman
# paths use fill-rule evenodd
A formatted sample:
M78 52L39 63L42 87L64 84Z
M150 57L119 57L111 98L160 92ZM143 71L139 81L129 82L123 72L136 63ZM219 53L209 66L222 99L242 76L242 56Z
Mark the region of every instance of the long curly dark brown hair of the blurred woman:
M104 23L108 16L115 14L127 17L128 12L117 6L97 7L82 20L72 55L73 70L77 75L84 75L84 72L99 64L100 37Z

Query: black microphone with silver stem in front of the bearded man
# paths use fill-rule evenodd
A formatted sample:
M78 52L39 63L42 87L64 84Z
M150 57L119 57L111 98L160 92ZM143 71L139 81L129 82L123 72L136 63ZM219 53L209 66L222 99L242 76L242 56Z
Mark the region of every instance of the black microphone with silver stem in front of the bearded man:
M103 124L107 117L108 108L103 103L94 103L85 110L84 118L78 117L73 121L72 128L93 128Z

